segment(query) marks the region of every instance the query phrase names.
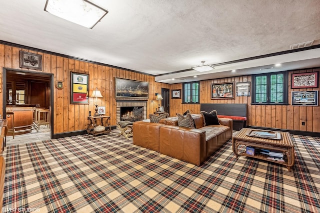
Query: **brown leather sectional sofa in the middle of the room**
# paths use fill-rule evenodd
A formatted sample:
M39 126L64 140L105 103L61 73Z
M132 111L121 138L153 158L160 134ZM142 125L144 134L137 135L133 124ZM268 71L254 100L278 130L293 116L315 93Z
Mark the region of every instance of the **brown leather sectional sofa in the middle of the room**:
M203 126L201 114L192 114L195 129L179 127L177 117L160 123L133 123L133 144L164 155L201 165L232 137L232 119L219 118L220 125Z

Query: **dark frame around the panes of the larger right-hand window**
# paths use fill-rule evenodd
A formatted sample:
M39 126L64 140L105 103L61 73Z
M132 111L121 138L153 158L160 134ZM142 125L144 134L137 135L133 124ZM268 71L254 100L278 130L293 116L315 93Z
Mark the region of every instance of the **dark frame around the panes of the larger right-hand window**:
M271 75L278 75L278 74L283 74L283 91L282 91L282 96L283 96L283 102L270 102L270 76ZM266 102L256 102L255 101L255 94L256 94L256 77L258 76L266 76L267 77L267 82L266 82L266 95L267 95L267 101ZM282 72L270 72L270 73L261 73L261 74L256 74L252 75L252 98L251 98L251 104L252 105L288 105L288 72L287 71L282 71Z

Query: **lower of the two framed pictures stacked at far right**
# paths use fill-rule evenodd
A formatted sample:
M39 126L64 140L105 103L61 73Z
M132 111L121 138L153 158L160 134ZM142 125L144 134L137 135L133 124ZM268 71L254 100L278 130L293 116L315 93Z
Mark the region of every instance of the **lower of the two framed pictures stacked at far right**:
M292 106L317 106L318 91L292 91Z

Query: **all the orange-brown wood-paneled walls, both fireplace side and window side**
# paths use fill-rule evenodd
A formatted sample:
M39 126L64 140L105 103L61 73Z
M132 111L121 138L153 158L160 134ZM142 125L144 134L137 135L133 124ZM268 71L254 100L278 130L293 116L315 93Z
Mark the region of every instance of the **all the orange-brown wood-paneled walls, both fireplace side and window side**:
M161 92L161 88L182 89L182 84L164 84L154 81L154 76L137 72L117 69L95 63L74 60L54 54L30 51L18 47L0 44L0 68L22 69L19 67L19 51L29 51L41 54L42 70L39 72L52 73L55 80L63 81L63 89L54 90L54 126L53 133L72 132L84 130L87 124L86 116L89 111L94 111L93 99L89 98L89 104L70 104L70 71L89 74L89 93L97 87L103 96L98 105L105 106L107 115L111 116L111 125L115 125L116 102L114 99L114 77L126 78L149 82L149 99L147 101L147 115L153 113L157 107L155 93ZM26 69L27 70L27 69ZM35 71L35 70L32 70ZM289 72L288 100L291 102L291 73L319 71L317 69L296 70ZM2 72L0 72L2 82ZM200 103L246 103L248 106L247 124L252 126L320 132L320 106L291 106L289 105L251 105L251 96L235 96L234 99L212 100L210 98L210 84L223 82L251 82L251 76L237 76L230 78L211 79L200 81ZM312 89L298 89L312 90ZM318 88L316 89L318 90ZM297 91L294 89L293 91ZM0 103L2 106L2 83L0 85ZM170 116L183 113L187 109L191 113L199 113L199 104L181 104L182 99L170 99ZM301 122L305 122L302 126Z

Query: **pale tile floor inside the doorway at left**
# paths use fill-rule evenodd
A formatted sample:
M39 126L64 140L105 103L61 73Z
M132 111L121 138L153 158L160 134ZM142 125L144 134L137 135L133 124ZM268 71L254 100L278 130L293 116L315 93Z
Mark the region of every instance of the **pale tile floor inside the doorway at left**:
M15 144L26 144L31 142L43 141L50 139L50 129L47 126L40 126L38 131L32 130L31 133L6 136L6 146L11 146Z

